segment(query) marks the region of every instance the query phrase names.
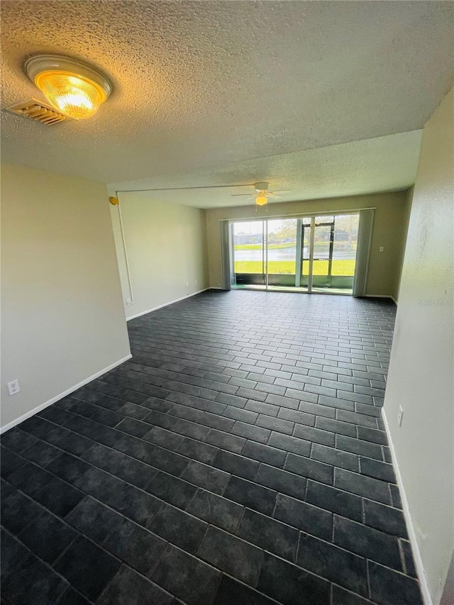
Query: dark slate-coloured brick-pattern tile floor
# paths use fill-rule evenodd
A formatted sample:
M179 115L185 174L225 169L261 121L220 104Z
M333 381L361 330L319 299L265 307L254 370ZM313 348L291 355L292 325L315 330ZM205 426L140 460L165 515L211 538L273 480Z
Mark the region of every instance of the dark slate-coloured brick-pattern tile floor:
M206 292L1 438L5 605L419 605L380 414L394 305Z

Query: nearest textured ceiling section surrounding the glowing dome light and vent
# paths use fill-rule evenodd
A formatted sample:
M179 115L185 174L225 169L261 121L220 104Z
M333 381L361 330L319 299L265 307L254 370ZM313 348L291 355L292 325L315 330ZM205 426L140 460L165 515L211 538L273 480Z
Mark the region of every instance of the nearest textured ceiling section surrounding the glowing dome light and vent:
M114 94L87 121L49 127L2 113L2 159L108 183L172 185L202 173L235 184L262 158L247 182L274 186L280 177L268 157L326 148L327 159L301 156L318 165L305 182L319 182L331 146L422 128L453 85L453 9L438 1L3 1L2 108L40 98L23 62L41 52L92 62ZM287 164L307 172L298 157ZM355 174L335 164L342 182ZM297 187L293 176L286 189ZM394 188L394 177L381 186Z

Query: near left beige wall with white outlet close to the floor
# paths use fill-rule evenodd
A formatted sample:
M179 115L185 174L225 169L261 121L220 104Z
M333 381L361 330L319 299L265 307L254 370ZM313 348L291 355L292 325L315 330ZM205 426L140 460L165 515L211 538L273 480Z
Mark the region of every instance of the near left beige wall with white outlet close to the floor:
M130 350L105 185L4 165L1 204L5 426Z

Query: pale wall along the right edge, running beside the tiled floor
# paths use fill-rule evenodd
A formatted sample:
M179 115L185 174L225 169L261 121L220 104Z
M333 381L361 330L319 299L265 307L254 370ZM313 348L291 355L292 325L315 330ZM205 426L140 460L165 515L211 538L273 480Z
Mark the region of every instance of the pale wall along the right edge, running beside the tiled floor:
M423 130L384 399L416 562L436 605L454 549L453 104L454 89Z

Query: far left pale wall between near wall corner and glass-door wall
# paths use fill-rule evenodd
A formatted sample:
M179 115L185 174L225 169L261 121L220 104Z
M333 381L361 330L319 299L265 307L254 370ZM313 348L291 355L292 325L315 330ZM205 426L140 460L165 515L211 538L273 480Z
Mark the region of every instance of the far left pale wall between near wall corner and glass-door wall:
M126 273L118 206L111 206L126 318L208 287L205 211L155 201L144 194L119 194L131 272Z

